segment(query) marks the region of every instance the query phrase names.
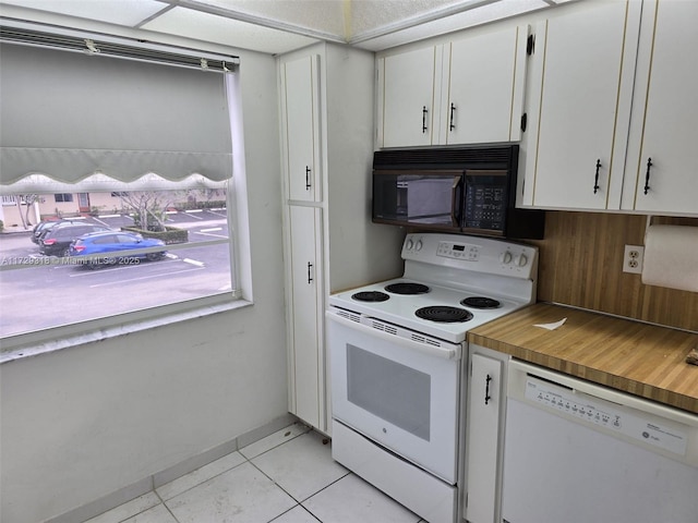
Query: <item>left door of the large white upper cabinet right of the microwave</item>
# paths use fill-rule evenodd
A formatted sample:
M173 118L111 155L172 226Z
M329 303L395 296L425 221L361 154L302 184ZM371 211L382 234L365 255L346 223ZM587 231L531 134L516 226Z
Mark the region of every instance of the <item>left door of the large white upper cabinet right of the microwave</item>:
M622 184L635 65L627 54L637 48L628 5L640 2L582 4L537 31L529 139L538 142L526 168L533 206L605 209L614 174Z

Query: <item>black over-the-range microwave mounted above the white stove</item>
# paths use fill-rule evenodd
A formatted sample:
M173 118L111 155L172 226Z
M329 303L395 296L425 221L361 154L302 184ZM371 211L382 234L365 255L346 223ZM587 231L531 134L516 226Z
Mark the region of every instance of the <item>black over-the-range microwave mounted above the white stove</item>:
M515 206L518 154L515 144L377 150L373 221L540 240L544 211Z

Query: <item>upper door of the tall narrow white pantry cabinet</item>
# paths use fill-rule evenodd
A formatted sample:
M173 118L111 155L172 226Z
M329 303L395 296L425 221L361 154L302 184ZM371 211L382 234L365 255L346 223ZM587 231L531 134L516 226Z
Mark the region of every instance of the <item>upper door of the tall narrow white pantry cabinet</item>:
M285 62L282 68L287 197L317 202L320 187L318 57Z

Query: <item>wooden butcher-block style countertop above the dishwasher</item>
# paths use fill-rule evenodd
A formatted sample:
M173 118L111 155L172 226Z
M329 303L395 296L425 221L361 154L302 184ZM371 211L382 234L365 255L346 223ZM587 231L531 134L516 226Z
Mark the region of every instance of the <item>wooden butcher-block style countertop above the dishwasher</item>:
M567 318L546 330L535 324ZM698 414L698 335L539 303L468 332L468 341Z

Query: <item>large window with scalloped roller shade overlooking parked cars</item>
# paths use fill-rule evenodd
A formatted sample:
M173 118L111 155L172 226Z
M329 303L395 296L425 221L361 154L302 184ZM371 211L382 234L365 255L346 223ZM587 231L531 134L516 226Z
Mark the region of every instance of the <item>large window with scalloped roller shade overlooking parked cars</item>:
M7 42L0 58L0 192L24 204L0 219L32 231L0 242L0 300L20 305L2 307L3 346L239 299L233 61Z

